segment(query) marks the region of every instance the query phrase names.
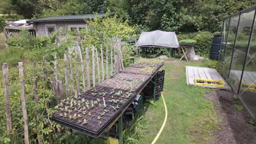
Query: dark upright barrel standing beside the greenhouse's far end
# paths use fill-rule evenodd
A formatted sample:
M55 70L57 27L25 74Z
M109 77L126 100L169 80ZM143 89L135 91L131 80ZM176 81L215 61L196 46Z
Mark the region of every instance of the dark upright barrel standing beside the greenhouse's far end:
M222 38L221 35L214 35L214 37L212 39L210 59L218 60L218 58L219 58L219 46L220 46L220 39L221 38Z

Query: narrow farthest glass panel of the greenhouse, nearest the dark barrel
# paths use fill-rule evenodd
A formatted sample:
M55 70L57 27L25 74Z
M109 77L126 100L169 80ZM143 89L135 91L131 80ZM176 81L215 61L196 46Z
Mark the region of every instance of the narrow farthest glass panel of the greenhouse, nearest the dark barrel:
M220 43L220 51L219 51L219 64L222 64L222 62L223 62L223 56L224 56L225 46L226 46L226 39L228 36L228 30L229 30L229 21L230 21L230 17L223 21L222 39L220 40L221 43Z

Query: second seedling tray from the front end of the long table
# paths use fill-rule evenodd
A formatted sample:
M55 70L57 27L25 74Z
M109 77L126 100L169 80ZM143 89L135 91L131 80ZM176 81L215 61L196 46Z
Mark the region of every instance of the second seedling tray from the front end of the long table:
M104 104L104 98L107 105L125 107L135 98L135 94L135 92L125 91L123 89L96 86L78 95L78 100L94 100L100 104Z

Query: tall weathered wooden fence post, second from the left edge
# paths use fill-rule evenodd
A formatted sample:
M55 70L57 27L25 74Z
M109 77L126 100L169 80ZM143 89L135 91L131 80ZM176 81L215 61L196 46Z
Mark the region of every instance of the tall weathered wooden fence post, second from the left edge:
M25 144L30 143L28 136L28 125L27 125L27 109L26 109L26 98L25 98L25 88L24 88L24 73L23 73L23 63L19 62L19 75L20 75L20 93L21 93L21 107L24 119L24 136Z

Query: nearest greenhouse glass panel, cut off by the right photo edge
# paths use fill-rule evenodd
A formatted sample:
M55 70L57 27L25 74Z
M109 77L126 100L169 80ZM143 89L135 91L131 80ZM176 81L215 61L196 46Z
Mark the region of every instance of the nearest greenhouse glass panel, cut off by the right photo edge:
M256 117L256 21L254 20L251 43L249 45L245 70L243 71L240 86L241 99L248 107L251 114Z

